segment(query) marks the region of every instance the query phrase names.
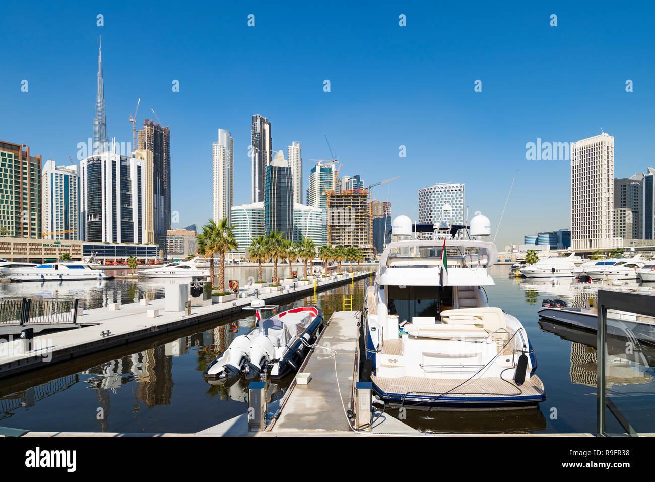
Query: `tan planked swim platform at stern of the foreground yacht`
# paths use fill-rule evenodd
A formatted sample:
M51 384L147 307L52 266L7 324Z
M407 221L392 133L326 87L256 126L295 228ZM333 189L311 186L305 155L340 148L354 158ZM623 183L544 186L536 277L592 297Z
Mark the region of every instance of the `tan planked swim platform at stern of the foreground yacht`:
M385 342L386 344L386 342ZM499 378L422 378L420 376L401 376L400 378L381 378L371 375L375 385L386 393L434 394L447 393L448 397L494 398L543 396L544 383L536 375L527 378L517 386L513 380Z

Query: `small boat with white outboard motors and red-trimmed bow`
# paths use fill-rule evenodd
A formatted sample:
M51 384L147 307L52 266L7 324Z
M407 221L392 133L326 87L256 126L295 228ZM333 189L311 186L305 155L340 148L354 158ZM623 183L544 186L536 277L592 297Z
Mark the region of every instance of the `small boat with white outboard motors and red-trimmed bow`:
M295 372L323 330L323 312L316 306L301 306L270 318L261 315L261 311L277 306L254 300L249 308L257 311L255 327L234 338L208 365L205 378L232 384L242 375L254 380L264 371L271 378Z

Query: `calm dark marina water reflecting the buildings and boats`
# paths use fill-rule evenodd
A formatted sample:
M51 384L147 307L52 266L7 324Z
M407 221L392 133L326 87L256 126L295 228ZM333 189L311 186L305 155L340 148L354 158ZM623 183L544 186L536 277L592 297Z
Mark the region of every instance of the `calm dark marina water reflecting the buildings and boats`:
M293 269L300 271L300 266ZM536 314L543 298L571 302L571 281L553 285L550 280L519 280L508 277L508 270L508 266L491 269L496 285L488 287L487 294L491 304L523 322L536 350L537 374L546 386L546 401L539 409L511 412L407 411L406 422L433 432L595 432L595 334L540 322ZM231 268L228 274L243 285L248 277L256 276L257 268ZM279 275L288 275L288 267ZM265 271L267 276L270 273ZM75 296L83 297L87 306L101 306L114 300L135 300L139 291L163 294L162 287L147 281L69 285L11 283L0 285L0 296ZM353 306L361 305L363 287L363 282L355 283ZM317 304L326 319L341 309L343 294L350 292L346 285L318 295ZM305 298L293 306L313 301ZM253 322L253 317L223 320L220 325L202 327L202 331L181 331L5 380L0 383L0 425L90 432L196 432L208 428L246 411L245 386L226 390L210 385L202 372ZM618 372L612 380L621 390L652 389L652 375L652 369L637 374ZM291 378L271 383L269 399L280 397L290 382ZM99 409L104 420L96 419ZM645 421L652 425L649 413Z

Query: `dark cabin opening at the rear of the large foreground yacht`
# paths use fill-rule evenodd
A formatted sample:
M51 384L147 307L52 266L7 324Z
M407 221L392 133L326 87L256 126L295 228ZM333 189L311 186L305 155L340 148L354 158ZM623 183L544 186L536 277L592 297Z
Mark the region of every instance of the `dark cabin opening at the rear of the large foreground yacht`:
M389 286L388 308L398 320L411 321L415 316L434 316L441 319L443 310L453 309L453 287Z

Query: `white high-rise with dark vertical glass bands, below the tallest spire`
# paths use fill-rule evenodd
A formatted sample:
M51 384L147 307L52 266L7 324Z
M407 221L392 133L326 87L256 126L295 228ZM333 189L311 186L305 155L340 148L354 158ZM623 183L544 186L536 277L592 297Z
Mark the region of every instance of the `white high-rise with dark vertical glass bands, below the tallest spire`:
M106 151L80 162L85 241L145 243L145 161Z

